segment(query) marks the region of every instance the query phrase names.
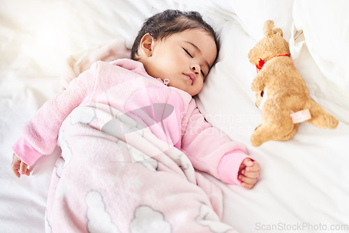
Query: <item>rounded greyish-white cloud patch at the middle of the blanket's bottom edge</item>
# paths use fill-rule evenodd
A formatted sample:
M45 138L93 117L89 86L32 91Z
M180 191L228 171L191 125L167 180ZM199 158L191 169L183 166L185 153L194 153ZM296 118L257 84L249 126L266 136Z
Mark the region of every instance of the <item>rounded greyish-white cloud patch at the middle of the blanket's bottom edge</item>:
M171 225L164 219L163 213L150 206L139 206L135 210L130 230L131 233L170 233Z

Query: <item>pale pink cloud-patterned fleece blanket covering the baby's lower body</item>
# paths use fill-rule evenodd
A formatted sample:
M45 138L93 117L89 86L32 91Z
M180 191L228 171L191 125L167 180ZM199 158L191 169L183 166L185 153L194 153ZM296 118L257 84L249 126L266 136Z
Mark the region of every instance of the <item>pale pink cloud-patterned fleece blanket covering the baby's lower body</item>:
M184 153L108 105L73 110L59 145L47 232L235 232L220 220L221 190Z

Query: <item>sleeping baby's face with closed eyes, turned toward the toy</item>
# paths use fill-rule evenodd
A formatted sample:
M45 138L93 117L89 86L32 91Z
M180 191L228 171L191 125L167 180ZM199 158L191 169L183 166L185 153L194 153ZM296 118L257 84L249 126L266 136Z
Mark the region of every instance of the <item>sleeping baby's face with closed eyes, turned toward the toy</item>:
M144 68L152 77L170 80L168 86L195 96L201 91L216 55L214 38L202 29L190 29L154 41Z

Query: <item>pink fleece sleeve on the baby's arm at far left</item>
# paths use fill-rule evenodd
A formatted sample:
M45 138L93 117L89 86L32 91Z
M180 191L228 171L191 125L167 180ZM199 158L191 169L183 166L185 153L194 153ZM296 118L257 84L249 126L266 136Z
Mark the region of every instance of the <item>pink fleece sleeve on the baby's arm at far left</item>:
M68 114L82 103L94 87L97 63L70 82L68 89L48 100L22 129L22 137L13 145L17 156L32 165L57 146L59 128Z

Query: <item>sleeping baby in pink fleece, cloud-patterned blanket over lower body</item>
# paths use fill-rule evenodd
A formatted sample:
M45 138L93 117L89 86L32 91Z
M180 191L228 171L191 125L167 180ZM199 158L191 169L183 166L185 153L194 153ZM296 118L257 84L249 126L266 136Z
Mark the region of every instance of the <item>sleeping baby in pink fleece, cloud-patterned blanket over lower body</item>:
M29 176L28 165L61 147L47 229L234 232L221 222L220 191L198 171L250 189L260 165L192 98L217 54L199 13L165 10L144 22L131 59L96 61L40 107L13 146L12 170Z

